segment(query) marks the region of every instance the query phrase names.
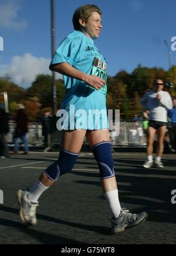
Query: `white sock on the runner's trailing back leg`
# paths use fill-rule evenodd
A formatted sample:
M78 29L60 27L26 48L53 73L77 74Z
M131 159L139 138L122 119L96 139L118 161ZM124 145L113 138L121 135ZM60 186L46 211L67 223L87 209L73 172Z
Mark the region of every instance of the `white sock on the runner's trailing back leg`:
M28 200L31 202L38 202L40 196L48 188L49 187L46 187L45 185L43 185L39 180L36 181L33 187L28 192Z

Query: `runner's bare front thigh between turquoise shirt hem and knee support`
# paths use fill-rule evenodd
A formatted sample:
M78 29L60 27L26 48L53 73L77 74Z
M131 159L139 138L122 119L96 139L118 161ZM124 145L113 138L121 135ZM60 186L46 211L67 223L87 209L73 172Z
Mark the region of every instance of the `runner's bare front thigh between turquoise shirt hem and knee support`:
M86 137L91 148L100 142L110 141L110 133L108 129L98 131L87 131Z

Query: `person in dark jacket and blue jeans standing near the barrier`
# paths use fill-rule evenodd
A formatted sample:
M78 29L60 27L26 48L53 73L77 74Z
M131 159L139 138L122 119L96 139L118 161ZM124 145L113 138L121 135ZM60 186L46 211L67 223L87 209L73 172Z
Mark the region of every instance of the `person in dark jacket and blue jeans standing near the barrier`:
M25 106L22 104L18 104L18 110L16 112L16 129L15 129L15 136L14 136L14 153L18 154L19 151L19 139L22 139L25 147L24 155L28 155L29 146L28 146L28 139L26 138L26 134L28 132L28 115L25 112Z

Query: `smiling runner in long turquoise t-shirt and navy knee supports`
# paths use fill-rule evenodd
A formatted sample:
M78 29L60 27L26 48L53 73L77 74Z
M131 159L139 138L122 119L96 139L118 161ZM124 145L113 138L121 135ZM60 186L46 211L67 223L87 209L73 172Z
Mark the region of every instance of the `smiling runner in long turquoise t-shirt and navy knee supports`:
M50 70L63 75L66 95L57 128L62 130L58 160L43 170L29 191L18 191L21 220L36 225L36 208L43 192L62 175L72 171L87 137L100 169L101 186L111 212L111 232L116 234L147 219L147 213L131 214L121 208L107 122L107 63L94 40L99 38L101 11L96 5L83 5L73 15L74 31L57 48ZM93 111L101 114L95 119ZM69 117L69 118L67 118ZM62 191L65 193L65 191ZM87 202L87 206L88 206Z

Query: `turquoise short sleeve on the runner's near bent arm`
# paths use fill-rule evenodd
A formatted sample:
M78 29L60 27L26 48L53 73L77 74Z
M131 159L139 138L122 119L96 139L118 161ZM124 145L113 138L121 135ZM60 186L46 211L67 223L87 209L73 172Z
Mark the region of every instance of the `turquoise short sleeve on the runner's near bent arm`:
M78 54L78 50L79 42L77 38L64 39L57 48L52 62L50 63L50 67L63 62L67 62L68 64L72 65L74 63L75 55Z

